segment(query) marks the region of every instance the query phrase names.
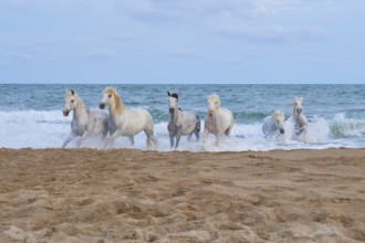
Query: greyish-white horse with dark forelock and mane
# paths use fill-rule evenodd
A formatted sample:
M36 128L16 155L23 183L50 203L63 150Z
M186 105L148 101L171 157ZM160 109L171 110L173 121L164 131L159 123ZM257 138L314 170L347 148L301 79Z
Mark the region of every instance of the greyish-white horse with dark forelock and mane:
M189 135L188 140L190 140L192 134L199 140L199 133L200 133L200 119L196 112L186 110L181 112L177 105L178 95L170 94L167 92L168 95L168 106L170 113L170 120L167 125L168 134L170 137L170 147L174 146L174 138L176 137L175 148L179 146L181 135Z

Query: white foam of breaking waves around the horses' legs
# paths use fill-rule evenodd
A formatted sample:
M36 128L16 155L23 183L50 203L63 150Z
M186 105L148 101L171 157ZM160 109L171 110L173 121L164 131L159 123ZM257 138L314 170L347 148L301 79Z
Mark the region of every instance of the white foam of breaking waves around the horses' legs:
M72 116L63 117L61 110L18 110L0 112L0 147L4 148L60 148L70 133ZM265 138L261 131L261 123L234 124L231 138L225 138L216 145L216 138L210 135L206 141L191 141L182 137L178 150L188 151L242 151L242 150L272 150L272 149L323 149L331 147L364 147L365 122L363 119L348 119L343 114L326 120L314 117L309 123L307 137L293 136L292 119L285 123L284 136ZM204 122L201 126L201 137ZM344 135L336 137L337 133ZM158 139L159 151L174 150L169 146L167 123L155 125L155 135ZM131 146L127 138L118 138L114 148L145 149L145 135L135 136L135 146ZM83 147L101 148L100 140L85 141ZM69 147L75 147L75 141Z

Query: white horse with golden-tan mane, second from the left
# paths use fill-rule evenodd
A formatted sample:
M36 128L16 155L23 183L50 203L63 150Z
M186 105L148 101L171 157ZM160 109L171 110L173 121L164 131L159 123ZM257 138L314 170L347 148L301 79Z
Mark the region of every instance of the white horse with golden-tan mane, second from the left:
M119 94L113 87L104 89L100 108L104 109L106 106L109 106L109 126L112 131L104 147L113 145L114 140L121 136L128 137L132 145L134 145L134 136L140 131L145 131L147 136L147 148L150 148L152 142L157 146L157 140L154 137L154 120L147 109L128 109L124 106Z

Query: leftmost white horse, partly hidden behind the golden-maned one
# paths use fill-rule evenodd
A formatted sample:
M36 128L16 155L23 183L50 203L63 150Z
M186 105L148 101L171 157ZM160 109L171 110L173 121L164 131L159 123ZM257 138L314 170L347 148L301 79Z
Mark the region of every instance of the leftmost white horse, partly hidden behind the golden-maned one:
M63 142L62 148L65 148L77 136L81 136L76 142L77 148L87 137L102 135L103 138L106 138L108 133L107 113L88 110L82 98L73 89L66 91L64 101L63 115L67 117L70 112L73 110L73 118L71 122L71 134Z

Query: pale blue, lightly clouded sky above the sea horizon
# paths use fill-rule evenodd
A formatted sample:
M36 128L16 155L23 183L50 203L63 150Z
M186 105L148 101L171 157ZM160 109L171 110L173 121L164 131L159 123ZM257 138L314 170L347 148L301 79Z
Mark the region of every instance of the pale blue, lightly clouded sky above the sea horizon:
M364 0L0 0L0 83L365 83Z

